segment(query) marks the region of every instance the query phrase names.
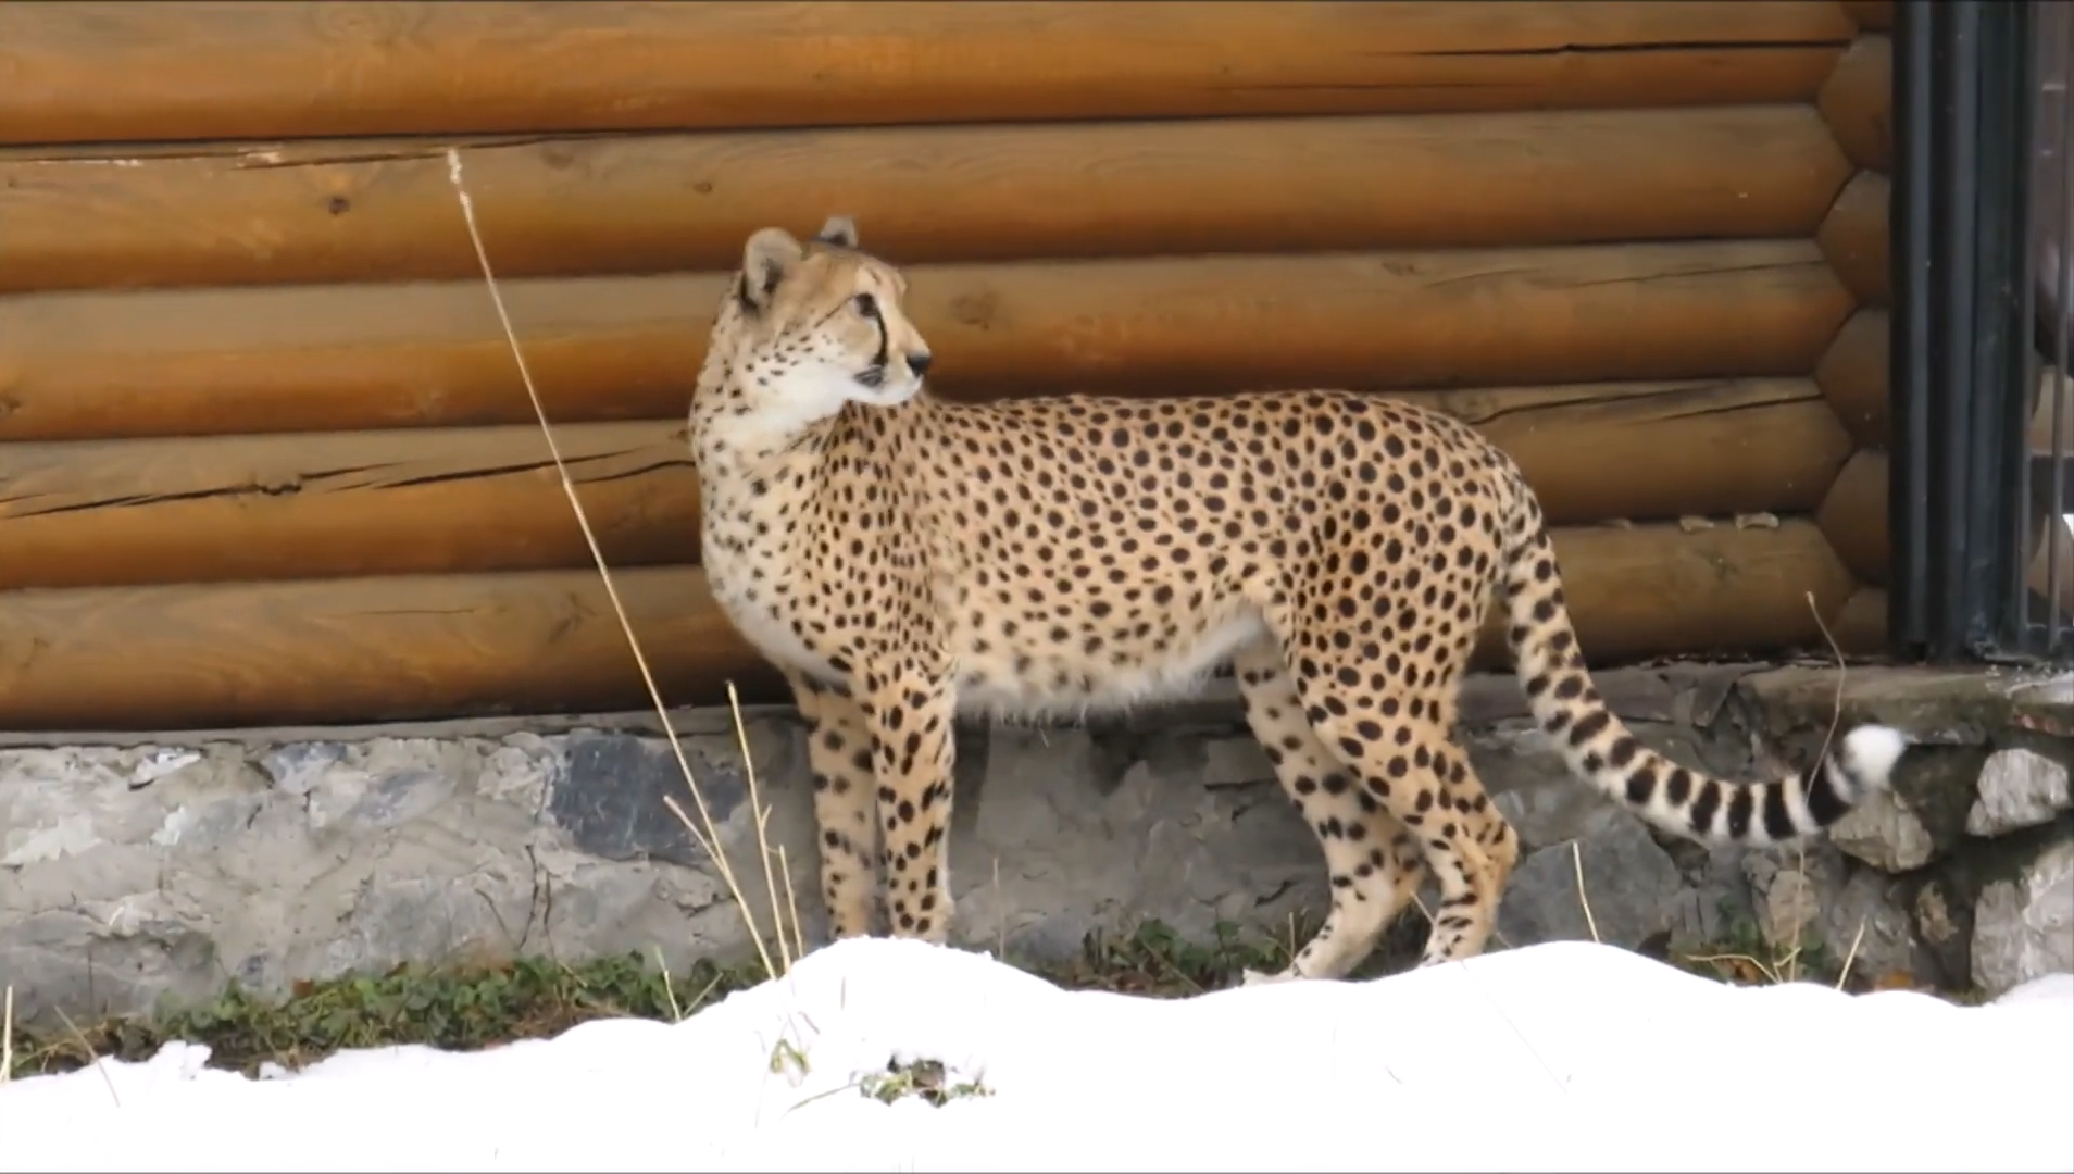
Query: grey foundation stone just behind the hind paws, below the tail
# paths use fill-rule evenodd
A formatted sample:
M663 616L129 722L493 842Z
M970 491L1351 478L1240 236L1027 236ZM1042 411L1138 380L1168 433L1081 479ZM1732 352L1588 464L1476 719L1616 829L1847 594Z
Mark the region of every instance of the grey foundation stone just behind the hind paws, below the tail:
M1599 940L1632 950L1674 929L1684 892L1678 865L1643 821L1620 815L1587 838L1520 861L1497 911L1497 933L1508 946Z

